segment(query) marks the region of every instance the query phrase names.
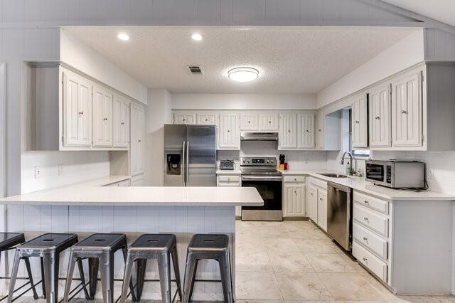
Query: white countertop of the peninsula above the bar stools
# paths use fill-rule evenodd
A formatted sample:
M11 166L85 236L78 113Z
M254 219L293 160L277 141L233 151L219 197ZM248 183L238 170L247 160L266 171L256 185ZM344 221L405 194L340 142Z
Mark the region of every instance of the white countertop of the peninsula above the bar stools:
M262 206L256 188L105 186L129 179L109 176L71 186L1 198L0 204L90 206Z

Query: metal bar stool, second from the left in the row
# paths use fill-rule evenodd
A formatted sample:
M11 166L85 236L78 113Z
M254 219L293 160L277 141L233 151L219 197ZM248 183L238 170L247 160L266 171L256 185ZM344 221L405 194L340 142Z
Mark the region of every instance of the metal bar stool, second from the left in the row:
M24 259L27 264L28 257L41 257L43 294L47 302L58 302L58 265L60 264L60 252L70 248L75 243L77 243L77 235L74 233L45 233L19 245L16 248L16 255L14 256L8 302L12 302L13 300L14 284L16 283L19 262L21 259ZM82 280L80 285L84 289L85 297L88 298L82 263L79 264L79 272ZM77 287L80 285L77 285ZM82 289L79 289L79 291Z

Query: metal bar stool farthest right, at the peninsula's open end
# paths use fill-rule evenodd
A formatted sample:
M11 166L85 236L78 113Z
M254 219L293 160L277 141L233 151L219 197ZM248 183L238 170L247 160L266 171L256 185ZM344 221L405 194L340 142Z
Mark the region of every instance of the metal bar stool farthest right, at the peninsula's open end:
M191 238L186 253L183 303L190 302L193 294L198 260L217 260L220 265L224 301L234 302L232 296L232 275L230 268L229 237L222 234L196 234Z

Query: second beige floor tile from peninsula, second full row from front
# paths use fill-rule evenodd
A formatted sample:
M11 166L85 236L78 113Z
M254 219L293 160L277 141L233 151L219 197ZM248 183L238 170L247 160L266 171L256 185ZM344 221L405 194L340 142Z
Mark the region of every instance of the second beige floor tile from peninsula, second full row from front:
M269 252L269 257L275 272L314 272L303 253Z

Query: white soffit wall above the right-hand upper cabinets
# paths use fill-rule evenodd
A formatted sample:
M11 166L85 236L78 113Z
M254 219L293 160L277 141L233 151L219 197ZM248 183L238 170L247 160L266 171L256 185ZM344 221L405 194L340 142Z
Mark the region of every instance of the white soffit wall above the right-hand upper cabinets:
M321 90L317 95L318 108L347 97L423 60L424 33L422 30L407 36L336 83Z

